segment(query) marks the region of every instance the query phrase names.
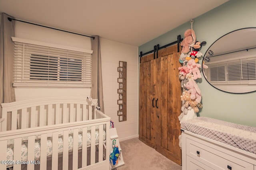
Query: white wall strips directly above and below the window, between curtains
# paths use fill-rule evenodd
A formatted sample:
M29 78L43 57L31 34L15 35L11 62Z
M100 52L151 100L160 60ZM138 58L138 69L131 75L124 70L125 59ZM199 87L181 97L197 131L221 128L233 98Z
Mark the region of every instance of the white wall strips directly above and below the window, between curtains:
M81 49L91 49L90 37L66 33L20 21L15 21L15 37ZM90 88L15 88L16 101L47 96L86 97L88 95L90 95Z

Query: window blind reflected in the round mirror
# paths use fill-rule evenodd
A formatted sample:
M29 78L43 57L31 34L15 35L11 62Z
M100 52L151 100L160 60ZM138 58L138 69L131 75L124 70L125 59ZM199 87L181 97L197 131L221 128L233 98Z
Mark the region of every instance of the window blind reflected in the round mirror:
M256 57L208 63L204 74L211 84L256 85Z

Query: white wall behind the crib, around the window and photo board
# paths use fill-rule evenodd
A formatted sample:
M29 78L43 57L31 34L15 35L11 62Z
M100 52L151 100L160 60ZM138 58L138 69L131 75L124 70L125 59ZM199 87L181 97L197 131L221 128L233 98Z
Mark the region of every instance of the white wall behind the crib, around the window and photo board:
M15 37L58 45L91 49L91 39L16 21ZM119 139L138 136L138 47L101 39L102 76L105 113L114 121ZM127 62L127 121L119 122L118 72L119 61ZM43 96L90 95L90 88L16 88L16 101Z

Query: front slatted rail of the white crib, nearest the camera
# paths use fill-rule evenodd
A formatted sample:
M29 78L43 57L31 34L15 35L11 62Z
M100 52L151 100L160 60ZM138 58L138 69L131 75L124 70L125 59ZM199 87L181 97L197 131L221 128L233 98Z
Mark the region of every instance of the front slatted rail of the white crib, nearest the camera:
M97 111L100 116L102 116L102 113L100 111ZM104 114L103 114L104 115ZM14 158L13 160L15 162L22 161L21 159L21 147L22 147L22 138L28 137L28 157L26 161L29 161L30 163L27 164L29 170L34 170L34 164L32 163L36 159L34 158L34 149L35 149L35 142L37 141L36 137L38 137L38 134L40 134L40 170L46 170L47 167L47 156L46 156L46 149L47 149L47 140L49 139L49 136L52 137L52 169L58 169L58 135L61 133L63 135L63 161L62 161L62 167L63 169L68 168L68 154L70 150L68 150L69 145L69 133L70 129L73 130L72 136L73 136L73 149L72 149L72 156L73 156L73 162L72 167L73 170L78 169L78 131L79 129L82 129L82 136L86 137L87 135L87 129L91 128L91 145L90 145L90 166L95 166L97 164L103 164L104 169L109 168L109 164L104 163L107 160L104 160L104 154L109 155L108 149L103 149L104 141L103 141L103 129L106 130L106 146L109 146L110 140L109 139L109 124L110 124L110 118L104 117L101 119L92 119L88 121L79 121L79 122L72 122L72 123L63 123L63 124L57 124L57 125L49 125L44 127L34 127L34 128L28 128L28 129L18 129L13 131L4 131L0 133L0 160L6 160L6 148L8 144L9 139L14 139ZM95 131L96 126L99 126L99 153L98 153L98 163L96 163L95 160L95 149L96 149L96 141L95 141ZM108 147L107 147L108 148ZM87 145L86 140L82 140L82 168L87 166ZM104 153L103 153L104 152ZM25 162L26 162L25 161ZM36 161L35 161L36 162ZM14 169L20 169L21 164L14 164ZM5 164L0 164L0 169L6 169Z

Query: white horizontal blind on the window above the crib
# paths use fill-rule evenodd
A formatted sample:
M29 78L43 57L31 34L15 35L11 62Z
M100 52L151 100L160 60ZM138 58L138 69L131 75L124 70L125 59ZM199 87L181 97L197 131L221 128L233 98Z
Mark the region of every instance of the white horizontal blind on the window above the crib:
M91 53L14 41L14 86L91 87L91 79Z

